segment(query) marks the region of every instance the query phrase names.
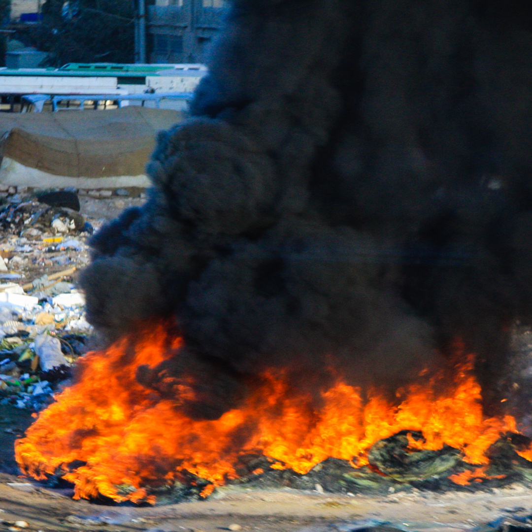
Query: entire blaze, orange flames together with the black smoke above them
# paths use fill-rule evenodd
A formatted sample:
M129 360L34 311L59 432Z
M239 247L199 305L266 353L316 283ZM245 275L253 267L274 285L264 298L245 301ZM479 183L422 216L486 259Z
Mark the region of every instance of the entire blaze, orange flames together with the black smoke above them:
M146 204L91 242L87 317L122 339L40 414L22 468L142 500L172 480L206 494L243 462L391 477L389 447L462 484L505 475L494 452L526 462L497 443L512 327L532 323L522 5L231 2Z

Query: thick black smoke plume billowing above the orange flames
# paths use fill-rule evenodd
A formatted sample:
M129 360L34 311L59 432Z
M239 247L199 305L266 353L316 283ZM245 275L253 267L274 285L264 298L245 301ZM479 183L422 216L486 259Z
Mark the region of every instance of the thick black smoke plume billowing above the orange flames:
M265 368L399 385L461 338L494 404L532 317L524 5L232 2L148 202L98 233L81 281L108 337L182 331L139 380L216 418Z

